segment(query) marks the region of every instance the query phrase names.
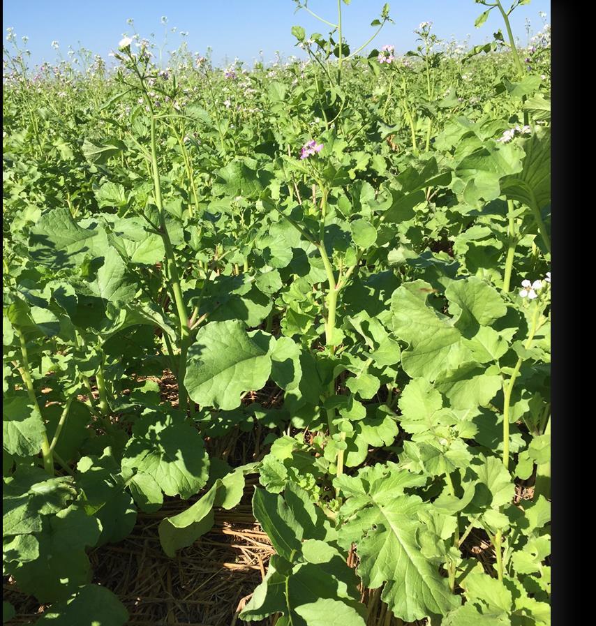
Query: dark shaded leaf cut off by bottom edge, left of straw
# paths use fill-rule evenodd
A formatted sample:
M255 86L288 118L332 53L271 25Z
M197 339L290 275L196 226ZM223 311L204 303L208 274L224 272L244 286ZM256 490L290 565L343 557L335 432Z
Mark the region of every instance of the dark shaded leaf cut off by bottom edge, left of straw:
M85 585L66 601L52 604L36 626L124 626L128 611L118 597L100 585Z

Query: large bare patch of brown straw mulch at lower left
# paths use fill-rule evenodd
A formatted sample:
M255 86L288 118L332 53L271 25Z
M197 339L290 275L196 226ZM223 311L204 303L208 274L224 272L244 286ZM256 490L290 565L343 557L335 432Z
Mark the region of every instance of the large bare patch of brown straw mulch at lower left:
M126 539L91 551L93 582L119 597L131 626L244 624L238 614L264 578L274 552L251 512L252 492L247 485L242 503L216 513L214 528L173 559L161 549L158 524L191 502L172 498L156 514L140 513ZM12 581L4 585L3 597L17 609L11 624L34 623L45 610L18 593Z

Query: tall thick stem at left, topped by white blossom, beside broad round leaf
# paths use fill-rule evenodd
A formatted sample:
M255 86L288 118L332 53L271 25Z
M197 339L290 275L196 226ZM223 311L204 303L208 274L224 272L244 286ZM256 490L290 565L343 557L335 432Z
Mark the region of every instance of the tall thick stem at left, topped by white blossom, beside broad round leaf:
M147 102L149 106L151 106L149 96L147 96ZM186 412L186 388L184 387L184 375L186 374L186 354L190 343L191 329L188 327L188 313L186 311L184 296L182 295L182 289L180 286L178 267L174 256L174 248L172 247L172 241L170 241L170 235L168 234L165 226L165 216L163 214L163 203L161 199L161 181L159 178L159 168L157 163L156 121L154 116L151 116L151 166L153 168L155 202L159 213L160 234L163 240L163 247L165 248L167 274L170 276L170 284L172 286L172 293L174 294L174 303L176 304L176 310L180 322L180 359L177 373L179 398L178 406L180 410Z

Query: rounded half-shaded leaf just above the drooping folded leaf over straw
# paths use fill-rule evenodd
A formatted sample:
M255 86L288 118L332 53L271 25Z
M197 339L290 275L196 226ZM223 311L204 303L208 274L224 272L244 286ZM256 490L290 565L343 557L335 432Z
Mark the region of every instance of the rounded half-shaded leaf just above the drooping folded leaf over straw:
M207 482L209 457L184 416L147 410L133 426L122 467L151 476L165 495L190 498Z

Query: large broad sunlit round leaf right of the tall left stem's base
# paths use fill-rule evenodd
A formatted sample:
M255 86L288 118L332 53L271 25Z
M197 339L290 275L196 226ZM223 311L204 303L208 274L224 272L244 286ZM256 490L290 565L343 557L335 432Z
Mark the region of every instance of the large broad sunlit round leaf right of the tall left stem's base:
M193 401L232 410L241 394L261 389L271 373L269 345L251 338L239 320L209 322L188 350L184 385Z

